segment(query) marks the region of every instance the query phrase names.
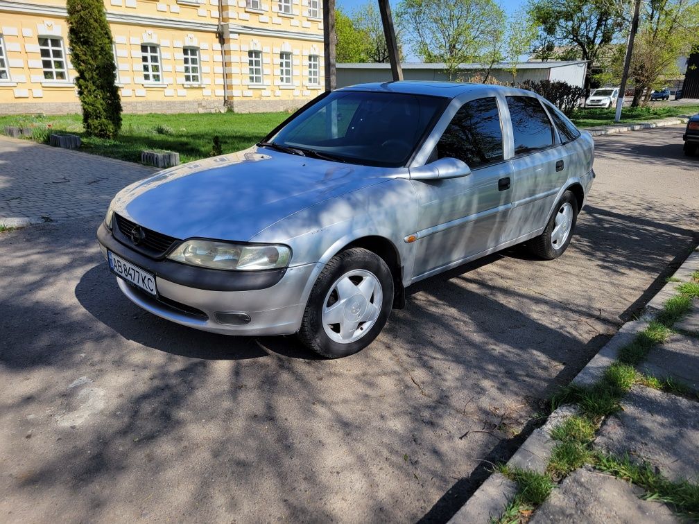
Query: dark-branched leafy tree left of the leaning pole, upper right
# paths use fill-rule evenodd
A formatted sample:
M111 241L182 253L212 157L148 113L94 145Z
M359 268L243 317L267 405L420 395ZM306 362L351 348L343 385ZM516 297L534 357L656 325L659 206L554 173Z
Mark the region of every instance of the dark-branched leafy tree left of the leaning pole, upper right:
M589 61L588 88L601 54L627 27L626 10L628 0L530 0L528 13L540 27L534 54Z

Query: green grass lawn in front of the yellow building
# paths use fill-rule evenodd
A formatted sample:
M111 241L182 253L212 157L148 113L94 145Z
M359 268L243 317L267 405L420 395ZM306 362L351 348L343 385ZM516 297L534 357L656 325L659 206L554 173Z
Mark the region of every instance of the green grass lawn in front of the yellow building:
M82 138L80 150L132 162L140 161L141 150L175 151L185 163L210 157L214 136L220 138L224 153L240 151L259 142L287 117L287 112L122 115L122 131L113 140L85 136L82 115L0 116L0 129L31 126L34 140L44 143L50 132L74 133Z

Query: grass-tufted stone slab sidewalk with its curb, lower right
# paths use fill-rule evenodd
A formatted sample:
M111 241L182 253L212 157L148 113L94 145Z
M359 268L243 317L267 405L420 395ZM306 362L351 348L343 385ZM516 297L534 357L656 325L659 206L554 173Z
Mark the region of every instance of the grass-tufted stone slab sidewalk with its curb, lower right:
M450 523L699 518L699 249Z

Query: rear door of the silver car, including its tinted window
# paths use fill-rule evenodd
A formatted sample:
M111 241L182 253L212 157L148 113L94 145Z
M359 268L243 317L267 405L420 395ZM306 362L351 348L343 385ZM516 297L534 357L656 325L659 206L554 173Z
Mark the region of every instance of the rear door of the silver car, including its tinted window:
M512 124L512 210L505 238L515 240L544 228L556 194L568 175L568 155L539 99L507 96Z

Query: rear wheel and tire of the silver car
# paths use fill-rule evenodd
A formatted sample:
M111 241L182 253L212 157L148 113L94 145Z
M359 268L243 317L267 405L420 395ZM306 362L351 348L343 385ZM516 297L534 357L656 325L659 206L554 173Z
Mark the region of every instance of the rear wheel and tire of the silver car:
M556 204L544 231L528 242L529 250L540 259L559 258L570 244L575 224L577 224L577 198L572 191L565 191ZM560 226L559 229L556 229Z

